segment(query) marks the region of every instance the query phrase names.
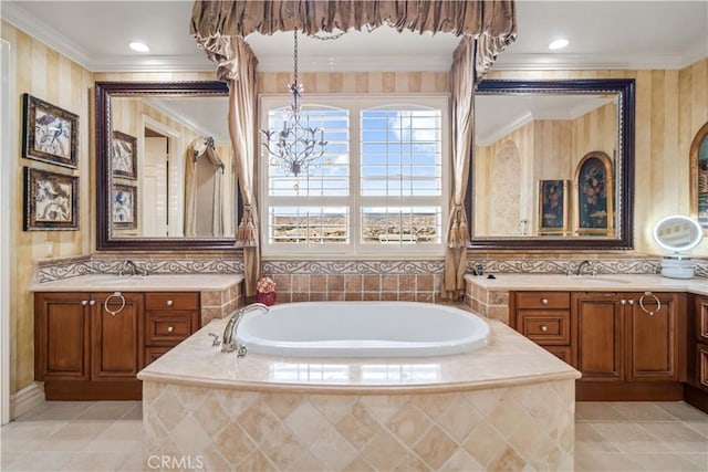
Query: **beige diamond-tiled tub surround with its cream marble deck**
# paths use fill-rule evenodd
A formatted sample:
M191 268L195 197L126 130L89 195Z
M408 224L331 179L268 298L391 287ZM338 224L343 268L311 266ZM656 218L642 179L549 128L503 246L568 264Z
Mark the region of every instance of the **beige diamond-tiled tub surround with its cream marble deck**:
M572 470L579 373L499 322L455 356L308 359L211 346L139 375L146 458L207 470ZM519 359L524 359L519 363Z

